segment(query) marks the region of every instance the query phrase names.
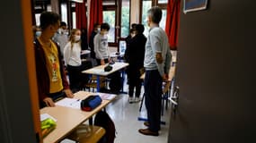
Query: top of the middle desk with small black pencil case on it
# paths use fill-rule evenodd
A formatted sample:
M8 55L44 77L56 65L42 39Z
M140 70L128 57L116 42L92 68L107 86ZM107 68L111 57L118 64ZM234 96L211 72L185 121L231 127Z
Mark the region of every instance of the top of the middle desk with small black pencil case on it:
M109 74L115 72L115 71L119 71L125 67L128 66L128 63L119 63L119 62L116 62L114 64L110 64L113 69L111 71L104 71L104 68L107 66L108 64L106 65L99 65L99 66L95 66L91 69L88 69L88 70L85 70L85 71L82 71L82 73L87 73L87 74L94 74L94 75L100 75L100 76L108 76Z

